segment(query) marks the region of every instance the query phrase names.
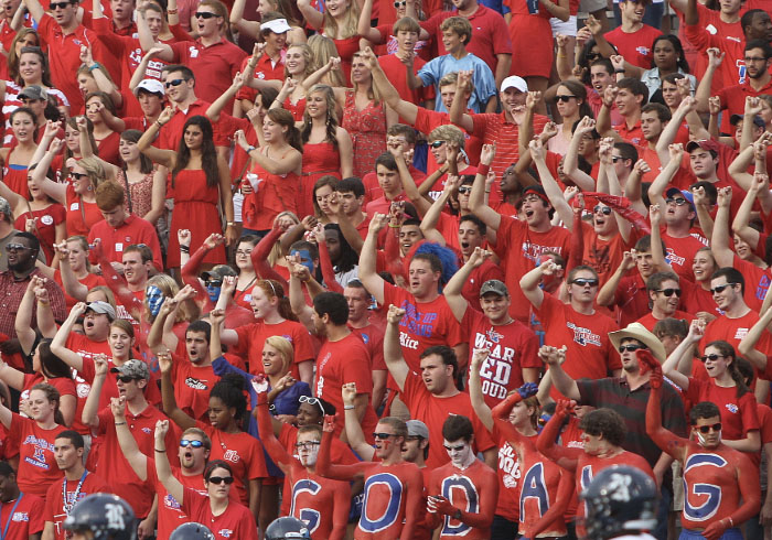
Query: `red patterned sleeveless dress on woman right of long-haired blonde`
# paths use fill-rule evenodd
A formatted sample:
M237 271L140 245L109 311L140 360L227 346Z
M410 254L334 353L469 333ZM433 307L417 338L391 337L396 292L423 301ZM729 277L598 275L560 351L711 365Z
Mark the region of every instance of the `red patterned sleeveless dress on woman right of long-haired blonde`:
M549 25L549 24L547 24ZM367 104L356 109L354 90L346 90L343 108L343 129L351 136L354 159L354 176L363 179L373 171L375 160L386 151L386 111L384 104Z

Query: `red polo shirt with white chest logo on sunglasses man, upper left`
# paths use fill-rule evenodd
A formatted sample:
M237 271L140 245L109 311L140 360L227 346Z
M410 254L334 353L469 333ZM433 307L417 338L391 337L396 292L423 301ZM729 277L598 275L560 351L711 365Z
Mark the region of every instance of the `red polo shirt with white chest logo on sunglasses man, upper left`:
M201 40L196 40L173 43L171 48L174 53L173 62L193 69L196 94L208 102L213 102L230 87L233 77L247 55L225 37L210 46L204 46ZM233 100L225 108L225 112L232 111Z

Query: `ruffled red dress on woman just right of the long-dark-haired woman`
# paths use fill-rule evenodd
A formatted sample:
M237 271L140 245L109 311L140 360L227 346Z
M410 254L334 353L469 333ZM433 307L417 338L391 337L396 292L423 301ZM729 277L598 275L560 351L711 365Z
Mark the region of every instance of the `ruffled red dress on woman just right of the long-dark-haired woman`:
M297 173L270 174L257 163L249 172L256 174L260 182L257 192L244 197L242 219L245 228L268 230L274 227L276 216L282 212L289 210L297 215L300 193Z

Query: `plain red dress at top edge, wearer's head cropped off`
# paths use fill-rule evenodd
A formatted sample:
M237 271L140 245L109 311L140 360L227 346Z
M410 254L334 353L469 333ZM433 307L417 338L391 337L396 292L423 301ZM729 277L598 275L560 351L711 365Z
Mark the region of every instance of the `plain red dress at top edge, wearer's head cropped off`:
M538 13L530 14L526 0L505 0L504 3L512 10L510 75L549 78L554 56L551 15L542 6Z

